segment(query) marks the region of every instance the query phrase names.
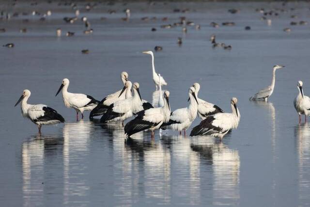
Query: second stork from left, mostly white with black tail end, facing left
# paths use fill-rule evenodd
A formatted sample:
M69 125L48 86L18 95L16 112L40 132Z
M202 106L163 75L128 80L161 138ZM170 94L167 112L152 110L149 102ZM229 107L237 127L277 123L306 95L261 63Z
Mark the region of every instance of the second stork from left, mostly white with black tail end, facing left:
M67 108L73 108L77 111L77 121L78 112L81 112L82 119L84 118L83 111L92 111L93 108L97 106L99 101L94 99L92 96L86 94L73 94L68 92L69 80L63 79L56 96L62 90L63 103Z

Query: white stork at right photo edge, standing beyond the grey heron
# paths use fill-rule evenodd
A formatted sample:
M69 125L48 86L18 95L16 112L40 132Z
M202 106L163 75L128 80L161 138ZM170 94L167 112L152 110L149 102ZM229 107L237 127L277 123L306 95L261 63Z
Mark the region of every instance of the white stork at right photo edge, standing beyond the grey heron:
M305 122L307 122L307 116L310 115L310 97L304 95L302 85L302 81L299 80L297 83L299 93L298 96L294 99L294 107L299 115L299 123L301 122L301 114L305 115Z

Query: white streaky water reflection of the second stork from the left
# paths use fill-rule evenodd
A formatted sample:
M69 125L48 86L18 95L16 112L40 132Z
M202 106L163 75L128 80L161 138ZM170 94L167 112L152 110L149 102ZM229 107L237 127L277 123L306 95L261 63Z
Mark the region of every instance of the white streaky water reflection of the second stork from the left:
M90 193L87 168L89 142L93 124L80 120L66 123L62 129L63 142L63 204L87 205ZM84 198L83 198L84 197Z

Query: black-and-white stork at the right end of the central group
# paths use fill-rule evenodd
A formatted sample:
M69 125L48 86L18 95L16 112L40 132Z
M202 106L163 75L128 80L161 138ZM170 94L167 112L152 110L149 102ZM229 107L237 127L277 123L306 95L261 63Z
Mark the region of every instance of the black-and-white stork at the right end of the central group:
M239 125L240 113L237 102L237 98L233 97L231 100L232 113L216 113L208 116L192 129L190 136L210 135L222 140L229 130L237 128Z

